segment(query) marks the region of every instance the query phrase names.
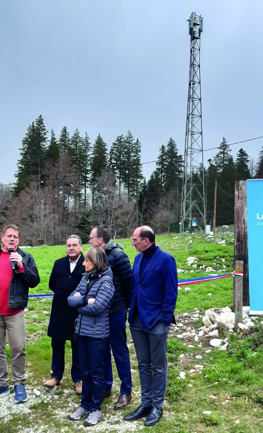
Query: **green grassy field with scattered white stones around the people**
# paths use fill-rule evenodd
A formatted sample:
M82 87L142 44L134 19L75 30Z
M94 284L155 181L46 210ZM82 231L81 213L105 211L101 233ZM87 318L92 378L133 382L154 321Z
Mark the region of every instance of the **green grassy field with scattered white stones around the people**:
M227 274L233 271L233 236L226 236L225 244L211 242L205 236L157 236L157 245L170 252L177 263L178 279L196 278L212 274ZM131 239L118 241L124 246L131 263L136 251L131 246ZM86 250L88 246L84 246ZM48 279L55 259L65 254L64 246L39 247L29 249L38 265L41 283L30 291L31 294L50 293ZM188 265L187 259L195 257ZM206 268L212 268L206 272ZM232 304L232 278L224 278L202 284L192 284L190 290L181 288L176 304L177 323L187 318L184 313L193 316L199 311L191 328L195 330L202 325L203 312L211 307L225 307ZM208 295L209 294L209 295ZM51 345L46 336L52 298L29 299L26 312L28 344L26 389L29 399L25 404L14 404L13 396L0 401L0 433L23 432L78 432L83 422L67 420L79 404L80 397L74 393L70 377L71 351L67 345L66 370L60 388L54 395L45 392L44 381L50 376ZM253 333L232 335L229 350L223 352L208 349L206 342L191 342L191 348L176 338L176 328L172 328L167 344L168 386L164 404L164 417L152 432L228 432L257 433L262 432L263 421L263 341L261 325L255 325ZM222 335L225 338L228 334ZM119 396L119 378L114 369L113 393L110 399L103 402L103 422L93 431L107 432L147 432L143 420L125 423L122 416L134 410L140 404L140 383L135 350L127 329L128 346L131 356L133 391L132 403L120 411L112 409ZM199 344L201 343L201 344ZM183 355L184 357L180 355ZM203 368L189 373L195 368L196 355L201 355ZM10 351L7 346L8 362ZM182 361L185 359L185 361ZM186 378L180 379L179 372L186 372ZM189 386L191 385L191 386ZM37 397L33 389L41 392ZM211 411L211 414L204 414ZM89 428L89 427L88 427Z

